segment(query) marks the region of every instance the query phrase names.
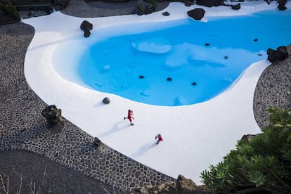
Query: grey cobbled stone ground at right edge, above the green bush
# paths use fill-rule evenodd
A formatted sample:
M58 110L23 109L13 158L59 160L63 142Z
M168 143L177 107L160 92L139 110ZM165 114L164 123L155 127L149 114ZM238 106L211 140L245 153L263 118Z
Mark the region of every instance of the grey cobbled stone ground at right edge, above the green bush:
M276 49L276 48L273 48ZM270 107L291 109L291 56L264 70L254 91L254 117L259 127L269 125Z

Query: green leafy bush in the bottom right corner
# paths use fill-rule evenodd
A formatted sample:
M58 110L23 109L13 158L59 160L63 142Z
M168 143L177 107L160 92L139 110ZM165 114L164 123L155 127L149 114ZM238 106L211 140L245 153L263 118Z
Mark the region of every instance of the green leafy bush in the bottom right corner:
M238 141L223 162L202 172L213 193L291 193L291 110L269 108L270 125Z

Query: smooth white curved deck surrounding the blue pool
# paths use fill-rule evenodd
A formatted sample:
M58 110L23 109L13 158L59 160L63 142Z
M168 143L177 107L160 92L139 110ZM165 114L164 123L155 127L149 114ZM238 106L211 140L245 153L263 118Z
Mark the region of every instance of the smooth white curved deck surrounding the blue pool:
M53 65L54 55L58 60L78 60L92 39L102 39L108 26L116 25L118 34L123 25L134 26L135 22L161 22L188 17L186 11L204 8L207 22L210 15L244 15L266 9L276 10L276 2L250 2L242 4L239 11L230 7L207 8L186 7L182 3L172 3L163 11L150 15L123 15L106 18L75 18L55 12L48 16L23 20L36 30L25 56L25 77L31 88L47 104L55 104L62 109L63 116L78 127L110 145L115 150L134 158L153 169L176 178L183 174L188 179L200 183L200 173L217 164L244 134L260 132L254 120L252 101L254 89L261 72L270 65L264 60L251 65L233 84L216 98L205 103L181 107L163 107L136 103L109 93L93 91L72 80L77 75L67 73L67 79L58 74ZM290 2L287 8L291 8ZM162 12L171 15L165 17ZM91 37L84 38L79 29L83 20L93 24ZM143 30L143 29L139 29ZM122 33L127 30L122 31ZM128 33L131 28L129 27ZM82 42L78 50L68 47L67 53L56 53L58 44L66 41ZM140 45L141 46L141 45ZM82 50L83 49L83 50ZM160 50L159 47L157 50ZM162 48L162 51L167 49ZM75 56L68 58L66 56ZM66 63L68 64L68 63ZM61 69L70 67L59 67ZM81 81L80 81L81 82ZM104 105L103 98L110 98ZM183 99L181 99L183 100ZM127 110L134 110L134 126L124 120ZM164 142L155 145L154 136L160 133Z

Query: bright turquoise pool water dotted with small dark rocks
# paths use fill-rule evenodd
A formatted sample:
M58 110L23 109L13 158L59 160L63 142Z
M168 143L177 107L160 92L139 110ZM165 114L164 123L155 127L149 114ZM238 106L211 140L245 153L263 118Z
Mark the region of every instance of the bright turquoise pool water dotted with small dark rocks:
M96 42L79 60L79 76L97 91L132 101L190 105L228 89L252 63L267 58L268 48L291 44L290 11L160 25Z

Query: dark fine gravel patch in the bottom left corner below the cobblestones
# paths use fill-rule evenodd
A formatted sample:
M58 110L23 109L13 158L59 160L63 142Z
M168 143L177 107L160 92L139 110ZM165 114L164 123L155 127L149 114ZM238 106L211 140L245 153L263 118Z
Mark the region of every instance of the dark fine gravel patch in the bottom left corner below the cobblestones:
M9 193L16 193L19 188L20 193L123 193L42 155L26 151L0 152L0 166L6 189L7 181L10 182ZM5 193L3 189L1 191Z

